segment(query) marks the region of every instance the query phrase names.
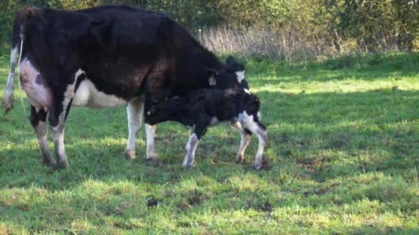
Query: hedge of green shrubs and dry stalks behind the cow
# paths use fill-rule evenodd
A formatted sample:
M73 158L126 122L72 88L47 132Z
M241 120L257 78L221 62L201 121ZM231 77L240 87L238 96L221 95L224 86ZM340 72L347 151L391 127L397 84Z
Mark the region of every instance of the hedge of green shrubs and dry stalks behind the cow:
M24 5L141 5L186 25L219 53L306 60L348 52L419 50L418 0L1 0L0 38Z

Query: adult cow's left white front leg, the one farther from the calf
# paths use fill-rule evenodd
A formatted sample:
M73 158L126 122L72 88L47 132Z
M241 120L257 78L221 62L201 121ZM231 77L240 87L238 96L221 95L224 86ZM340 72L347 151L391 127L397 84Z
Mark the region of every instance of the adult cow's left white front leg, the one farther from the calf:
M127 117L128 117L128 140L127 148L125 148L125 157L127 159L135 158L135 141L136 133L139 132L141 121L143 117L144 98L135 98L128 102ZM147 139L148 140L148 139Z

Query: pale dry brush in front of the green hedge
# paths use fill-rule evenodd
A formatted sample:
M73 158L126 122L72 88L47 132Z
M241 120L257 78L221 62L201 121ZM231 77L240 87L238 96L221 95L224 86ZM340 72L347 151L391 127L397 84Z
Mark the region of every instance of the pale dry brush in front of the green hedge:
M292 25L285 25L280 30L257 26L207 27L199 31L198 39L216 54L236 54L245 58L269 58L287 62L323 60L344 54L373 52L365 41L340 41L336 47L327 33L318 36ZM390 35L383 35L374 43L378 45L374 52L400 52L407 49Z

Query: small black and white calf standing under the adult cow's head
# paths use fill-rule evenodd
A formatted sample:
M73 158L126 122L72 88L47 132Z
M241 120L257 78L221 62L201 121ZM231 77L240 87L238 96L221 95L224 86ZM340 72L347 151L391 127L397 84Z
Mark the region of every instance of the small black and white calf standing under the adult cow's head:
M192 128L192 135L185 148L183 166L194 166L196 146L208 126L229 122L241 134L236 162L240 163L243 160L245 149L253 133L259 139L254 168L260 169L267 129L260 123L259 106L259 99L247 89L202 89L192 91L183 97L158 100L151 105L147 115L152 124L174 121Z

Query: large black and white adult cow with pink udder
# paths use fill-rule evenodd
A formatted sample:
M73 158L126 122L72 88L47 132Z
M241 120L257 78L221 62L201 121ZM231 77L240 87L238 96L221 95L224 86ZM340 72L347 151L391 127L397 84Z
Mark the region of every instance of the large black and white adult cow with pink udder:
M30 102L30 121L43 164L53 164L47 143L48 114L59 168L68 166L64 130L72 105L127 104L125 156L133 158L142 113L148 112L153 100L203 88L247 88L244 67L234 59L221 63L165 14L122 5L75 11L21 10L12 32L10 75L3 100L6 112L12 108L18 56L19 80ZM223 76L214 78L216 73ZM155 161L155 125L148 117L146 154Z

